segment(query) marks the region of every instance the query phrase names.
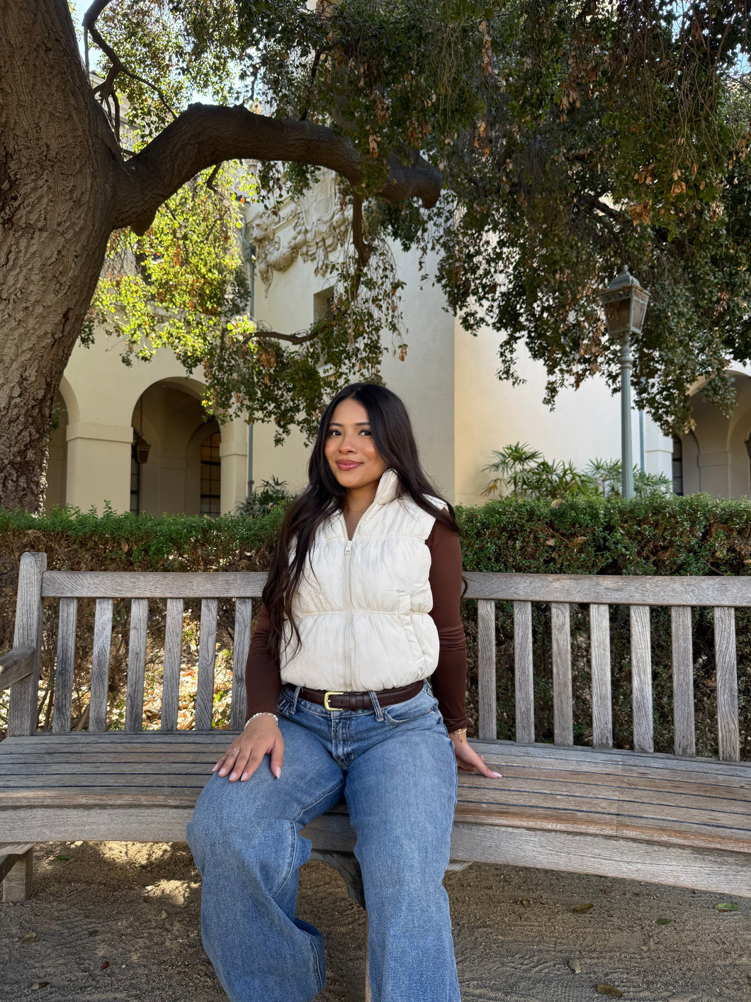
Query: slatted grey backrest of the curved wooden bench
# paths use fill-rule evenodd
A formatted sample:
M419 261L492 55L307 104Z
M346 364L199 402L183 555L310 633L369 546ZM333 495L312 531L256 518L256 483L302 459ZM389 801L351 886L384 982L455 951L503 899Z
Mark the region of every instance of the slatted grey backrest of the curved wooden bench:
M200 600L195 729L210 730L213 708L218 603L233 609L230 726L245 714L244 665L250 643L252 600L265 574L207 572L47 571L46 555L21 560L14 647L37 651L35 674L11 686L9 734L31 733L39 677L42 603L59 599L52 729L70 730L78 601L96 600L88 729L106 729L107 696L115 599L130 602L124 729L142 729L149 599L166 602L161 729L177 729L178 690L186 599ZM692 606L714 610L719 758L739 760L736 607L751 606L750 577L638 577L576 574L468 572L467 598L478 600L479 731L497 736L496 603L514 610L516 739L535 741L533 603L550 605L555 743L573 745L571 606L589 605L592 734L595 747L613 746L610 607L630 606L633 746L654 750L650 606L671 609L674 752L696 754ZM36 717L34 716L34 721Z

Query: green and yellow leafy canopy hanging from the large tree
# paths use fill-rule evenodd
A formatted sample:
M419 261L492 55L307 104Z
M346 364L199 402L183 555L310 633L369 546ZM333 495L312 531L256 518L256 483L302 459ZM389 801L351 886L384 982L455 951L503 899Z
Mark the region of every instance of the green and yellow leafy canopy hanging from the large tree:
M137 274L105 276L93 314L126 353L169 345L186 367L205 363L215 413L246 407L283 434L309 431L349 376L380 378L380 331L404 356L387 236L436 252L450 309L499 338L499 377L517 380L524 343L550 405L592 376L616 387L598 294L626 263L652 293L633 345L637 406L683 431L701 381L727 414L727 360L751 359L751 100L733 78L744 17L733 0L690 17L658 0L113 0L99 26L126 69L125 145L196 95L325 124L359 153L362 182L342 191L364 199L377 253L365 270L342 256L335 309L304 347L261 337L241 302L242 258L222 246L231 204L209 204L204 177L189 186L195 203L178 193L146 237L115 234L113 258ZM96 68L106 74L107 58ZM438 167L448 196L430 210L368 202L394 152ZM315 181L314 166L282 168L262 149L258 160L269 201Z

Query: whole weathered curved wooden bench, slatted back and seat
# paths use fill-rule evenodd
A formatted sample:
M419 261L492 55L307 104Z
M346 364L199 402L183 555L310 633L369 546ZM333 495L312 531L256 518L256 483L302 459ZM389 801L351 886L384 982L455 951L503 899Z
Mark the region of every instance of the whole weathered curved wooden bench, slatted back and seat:
M751 577L605 577L468 573L478 601L479 739L502 781L460 775L453 858L674 884L751 897L751 764L739 762L734 607ZM47 571L21 560L10 686L0 743L0 876L5 900L30 890L31 847L54 840L184 841L211 766L244 717L243 668L257 573ZM96 599L87 731L71 732L79 598ZM183 600L200 598L195 729L177 729ZM36 731L42 603L59 598L51 731ZM142 730L148 600L166 599L161 729ZM233 731L212 730L217 603L235 606ZM125 725L106 729L113 599L130 600ZM496 615L514 603L516 741L496 740ZM532 603L550 603L555 743L535 742ZM594 746L574 744L570 609L589 605ZM612 747L609 606L631 607L633 749ZM673 755L653 750L650 606L670 606ZM719 759L695 757L691 607L714 608ZM575 651L576 653L576 651ZM341 859L346 811L310 825L318 858ZM4 844L4 845L3 845ZM333 854L333 855L332 855ZM349 875L348 883L356 883ZM356 888L353 890L356 896Z

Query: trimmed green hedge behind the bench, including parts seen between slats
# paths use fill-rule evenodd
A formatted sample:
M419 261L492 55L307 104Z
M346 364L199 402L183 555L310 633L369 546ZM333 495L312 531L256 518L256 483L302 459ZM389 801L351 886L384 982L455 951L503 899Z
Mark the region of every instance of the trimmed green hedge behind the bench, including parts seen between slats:
M0 649L12 643L15 584L24 550L44 550L48 566L68 570L262 570L283 509L256 518L171 515L101 516L66 509L43 518L0 510ZM457 509L463 531L466 570L574 574L748 574L751 572L751 502L653 496L642 500L586 499L551 505L504 499L482 507ZM93 605L93 603L89 603ZM117 603L116 603L117 604ZM188 603L189 605L190 603ZM54 602L45 617L43 679L54 664ZM158 664L158 633L163 609L151 603L151 647ZM470 685L468 705L476 715L477 627L475 603L463 603L468 634ZM126 603L115 617L112 689L113 719L118 719L125 665ZM189 617L188 617L189 618ZM93 611L81 602L74 714L85 725L86 663L90 658ZM697 749L716 755L716 700L712 611L694 610ZM742 756L751 759L751 611L738 610L739 700ZM575 739L591 740L591 702L586 607L572 610L572 657L575 694ZM118 632L119 630L119 632ZM186 637L194 625L186 620ZM191 632L192 631L192 632ZM611 609L615 742L631 742L631 697L628 609ZM231 609L223 610L220 637L231 645ZM538 740L552 740L552 661L549 609L534 610L535 697ZM498 603L499 736L514 736L514 655L511 608ZM118 644L122 650L118 660ZM658 750L672 744L671 651L669 614L652 611L655 691L655 738ZM88 660L90 665L90 659ZM158 668L154 667L155 671ZM158 679L157 679L158 682ZM42 707L40 720L48 719ZM3 725L0 704L0 726ZM217 715L219 722L223 721Z

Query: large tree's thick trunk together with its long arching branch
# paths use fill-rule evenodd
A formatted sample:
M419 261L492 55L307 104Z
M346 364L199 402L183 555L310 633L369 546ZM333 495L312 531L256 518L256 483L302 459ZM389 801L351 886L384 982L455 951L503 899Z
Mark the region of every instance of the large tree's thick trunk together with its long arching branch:
M0 506L43 501L52 405L115 226L143 232L204 166L295 160L361 180L322 125L192 105L123 162L81 62L66 0L0 0ZM441 174L396 154L377 192L436 203Z

